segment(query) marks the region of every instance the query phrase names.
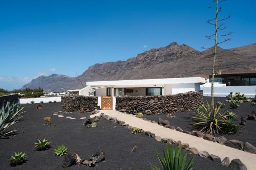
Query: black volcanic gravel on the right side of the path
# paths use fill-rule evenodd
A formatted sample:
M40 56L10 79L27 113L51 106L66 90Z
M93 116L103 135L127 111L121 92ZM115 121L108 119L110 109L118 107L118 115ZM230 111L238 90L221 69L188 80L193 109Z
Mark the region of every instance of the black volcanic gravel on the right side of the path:
M206 100L209 102L209 97L204 97L204 102ZM224 109L221 109L221 112L227 110L229 108L229 102L226 102L226 98L215 98L215 101L221 101L222 103L225 103ZM240 124L240 118L241 116L245 116L247 118L247 115L250 114L252 111L256 111L256 106L251 106L251 103L240 103L240 106L238 109L228 109L232 112L235 112L238 115L238 118L236 122ZM170 126L181 127L183 130L191 131L190 125L191 125L191 119L190 116L193 114L193 111L187 111L187 112L177 112L173 115L176 115L175 118L167 118L165 114L161 115L145 115L144 118L155 120L158 122L158 117L162 119L168 119ZM227 139L238 139L243 142L249 142L256 146L256 121L253 120L246 120L246 126L241 126L241 134L239 135L223 135Z

